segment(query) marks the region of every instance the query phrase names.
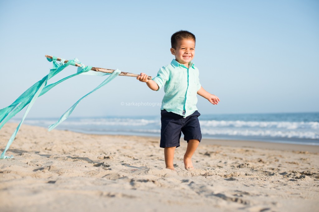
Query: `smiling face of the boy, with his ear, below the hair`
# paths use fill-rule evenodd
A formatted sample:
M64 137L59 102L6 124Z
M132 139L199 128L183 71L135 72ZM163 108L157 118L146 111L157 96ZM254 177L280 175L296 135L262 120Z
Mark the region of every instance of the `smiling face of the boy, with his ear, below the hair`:
M195 56L195 41L193 39L178 40L175 48L171 48L171 53L175 55L175 60L188 67L188 63Z

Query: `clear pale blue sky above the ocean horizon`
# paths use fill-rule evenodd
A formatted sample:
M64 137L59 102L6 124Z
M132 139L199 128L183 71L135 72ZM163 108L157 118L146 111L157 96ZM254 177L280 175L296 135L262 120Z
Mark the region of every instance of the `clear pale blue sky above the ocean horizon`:
M0 1L0 108L48 73L44 55L155 76L174 58L170 36L196 35L202 114L319 111L318 1ZM68 67L52 81L70 75ZM40 97L29 117L58 117L104 80L77 76ZM156 115L163 89L119 76L72 116ZM17 115L22 116L22 113Z

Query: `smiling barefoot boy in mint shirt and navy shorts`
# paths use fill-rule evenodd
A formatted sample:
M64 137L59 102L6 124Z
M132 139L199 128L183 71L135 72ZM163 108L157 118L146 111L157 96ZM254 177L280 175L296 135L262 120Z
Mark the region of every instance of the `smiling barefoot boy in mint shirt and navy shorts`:
M154 91L160 90L164 85L160 147L164 148L166 168L171 170L175 170L174 151L180 146L182 133L184 140L187 140L185 169L194 169L191 158L202 139L198 121L200 113L196 107L197 94L208 99L213 105L220 101L217 96L205 91L199 83L198 69L191 62L195 55L195 42L195 35L189 31L175 32L171 37L171 53L175 56L171 64L159 69L153 79L147 79L148 75L145 73L137 77Z

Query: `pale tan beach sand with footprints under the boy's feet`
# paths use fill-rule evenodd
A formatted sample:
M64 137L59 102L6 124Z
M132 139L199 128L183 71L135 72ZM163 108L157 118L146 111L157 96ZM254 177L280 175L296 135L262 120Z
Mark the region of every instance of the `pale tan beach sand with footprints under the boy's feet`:
M158 137L23 125L0 161L0 211L319 211L318 146L202 140L186 171L186 145L174 172Z

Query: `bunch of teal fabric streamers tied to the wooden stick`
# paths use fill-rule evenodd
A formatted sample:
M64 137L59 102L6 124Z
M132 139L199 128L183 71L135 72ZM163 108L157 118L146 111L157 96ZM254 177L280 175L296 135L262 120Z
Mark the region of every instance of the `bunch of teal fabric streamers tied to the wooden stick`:
M78 61L77 58L74 60L69 60L67 63L64 64L64 59L62 59L62 62L60 64L57 63L57 57L52 57L52 59L47 58L49 62L53 62L53 67L50 69L49 73L47 76L45 76L43 79L40 81L36 82L34 85L32 85L30 88L28 88L24 93L22 93L18 99L16 99L10 106L5 107L0 110L0 129L4 126L4 124L10 120L13 116L15 116L17 113L19 113L25 106L26 112L19 123L18 127L15 129L13 134L11 135L11 138L9 139L3 153L0 156L0 159L8 159L8 158L13 158L13 155L11 157L5 156L5 152L9 149L10 145L12 144L14 138L16 137L23 121L25 120L27 114L29 113L31 107L33 106L35 100L48 92L50 89L55 87L56 85L60 84L61 82L65 81L66 79L70 79L71 77L77 76L79 74L89 74L89 75L97 75L97 76L105 76L105 75L110 75L110 73L101 73L101 72L93 72L90 71L92 69L92 66L86 66L83 65L80 61ZM64 68L66 68L69 65L75 65L75 63L78 63L81 65L81 67L78 68L77 73L72 74L68 77L65 77L55 83L52 83L50 85L47 85L47 82L50 78L58 74L59 72L63 71ZM84 97L79 99L67 112L65 112L61 118L53 125L50 126L49 131L52 130L54 127L58 126L63 120L67 119L69 115L73 112L75 107L79 104L79 102L90 95L91 93L95 92L102 86L106 85L108 82L113 80L118 74L120 73L120 70L114 71L110 77L108 77L106 80L104 80L98 87L96 87L93 91L89 92L86 94Z

